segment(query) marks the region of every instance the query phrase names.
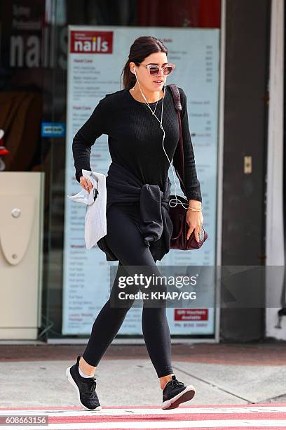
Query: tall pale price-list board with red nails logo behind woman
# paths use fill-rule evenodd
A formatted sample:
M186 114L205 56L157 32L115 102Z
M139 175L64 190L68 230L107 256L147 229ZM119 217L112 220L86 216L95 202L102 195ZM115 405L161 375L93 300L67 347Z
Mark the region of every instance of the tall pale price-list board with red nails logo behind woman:
M81 190L75 178L72 141L99 101L106 94L121 89L121 70L130 46L142 34L163 40L168 48L168 61L176 65L173 74L167 78L167 84L177 84L186 93L196 169L203 195L203 224L209 234L201 249L187 252L170 250L157 264L184 266L186 275L196 266L216 264L219 30L69 26L62 334L90 334L97 314L109 299L110 266L118 266L118 261L106 261L104 252L97 246L86 249L86 205L67 198L67 195L75 195ZM90 167L107 175L110 163L108 136L102 135L92 146ZM169 178L171 193L174 194L171 167ZM182 195L177 176L175 180L177 194ZM205 306L167 308L171 334L214 334L214 276L209 276L207 282L198 285L198 289L201 297L205 294ZM130 308L118 334L142 334L141 318L142 308Z

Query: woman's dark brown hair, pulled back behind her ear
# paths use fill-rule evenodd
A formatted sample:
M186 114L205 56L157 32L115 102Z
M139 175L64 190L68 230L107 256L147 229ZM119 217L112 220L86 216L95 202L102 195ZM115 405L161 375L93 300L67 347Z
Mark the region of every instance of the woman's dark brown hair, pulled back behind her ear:
M123 88L130 89L136 83L135 74L130 70L130 62L132 61L139 65L144 58L156 52L165 52L166 56L168 56L168 49L160 39L152 36L140 36L135 39L130 47L128 60L121 72L121 78L123 75Z

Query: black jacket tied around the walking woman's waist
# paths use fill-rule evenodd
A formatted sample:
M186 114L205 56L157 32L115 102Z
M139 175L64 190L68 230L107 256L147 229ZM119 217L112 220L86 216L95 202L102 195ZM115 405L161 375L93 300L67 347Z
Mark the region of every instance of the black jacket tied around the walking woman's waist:
M107 211L113 203L139 202L141 231L144 242L156 260L161 260L170 250L172 221L169 215L171 183L166 178L163 191L159 185L142 183L132 172L117 162L111 162L106 178ZM120 228L120 226L119 226ZM108 234L108 225L107 225ZM97 245L107 256L107 261L118 258L107 246L105 237Z

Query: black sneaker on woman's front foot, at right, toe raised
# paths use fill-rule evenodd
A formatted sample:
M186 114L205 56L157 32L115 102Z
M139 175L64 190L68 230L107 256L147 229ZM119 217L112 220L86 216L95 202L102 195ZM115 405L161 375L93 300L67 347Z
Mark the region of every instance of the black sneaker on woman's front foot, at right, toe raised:
M175 409L180 403L191 400L196 393L196 389L192 385L185 385L184 382L179 382L175 374L172 374L172 379L165 385L163 389L163 405L162 409Z

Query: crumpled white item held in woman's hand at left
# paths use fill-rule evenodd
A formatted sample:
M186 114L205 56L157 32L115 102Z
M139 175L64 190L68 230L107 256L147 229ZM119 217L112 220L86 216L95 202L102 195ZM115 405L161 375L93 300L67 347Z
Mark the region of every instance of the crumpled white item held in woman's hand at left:
M81 188L81 191L76 195L68 195L67 197L74 202L87 205L84 235L86 248L90 249L98 240L107 235L107 186L104 174L84 169L82 172L83 176L93 184L93 189L88 193L87 190ZM95 193L97 196L94 199Z

